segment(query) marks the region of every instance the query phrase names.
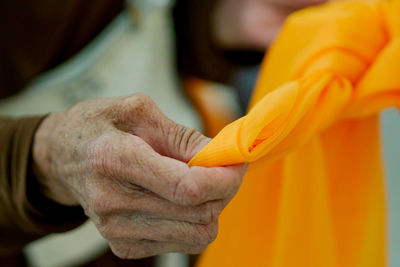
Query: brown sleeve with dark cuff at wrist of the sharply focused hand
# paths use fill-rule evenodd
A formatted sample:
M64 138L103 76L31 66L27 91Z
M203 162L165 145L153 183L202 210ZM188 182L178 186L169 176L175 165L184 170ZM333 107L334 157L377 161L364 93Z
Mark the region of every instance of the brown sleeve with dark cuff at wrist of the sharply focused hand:
M32 141L44 117L0 118L0 255L86 219L82 208L64 207L42 196L32 175Z

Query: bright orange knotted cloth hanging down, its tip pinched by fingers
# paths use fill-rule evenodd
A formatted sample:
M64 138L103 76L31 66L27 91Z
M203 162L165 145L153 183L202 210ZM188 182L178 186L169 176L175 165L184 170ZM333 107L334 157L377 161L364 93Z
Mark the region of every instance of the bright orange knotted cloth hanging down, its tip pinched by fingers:
M198 266L385 266L378 112L391 106L400 107L400 1L291 15L248 115L189 163L250 163Z

